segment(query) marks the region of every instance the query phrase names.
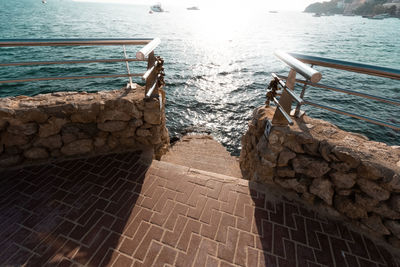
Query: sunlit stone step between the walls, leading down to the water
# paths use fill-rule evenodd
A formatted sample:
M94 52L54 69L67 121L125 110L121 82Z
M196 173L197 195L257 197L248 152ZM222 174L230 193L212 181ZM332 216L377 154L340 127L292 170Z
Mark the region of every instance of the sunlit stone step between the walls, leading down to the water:
M242 178L239 159L210 135L186 135L165 154L161 161Z

